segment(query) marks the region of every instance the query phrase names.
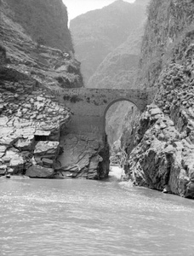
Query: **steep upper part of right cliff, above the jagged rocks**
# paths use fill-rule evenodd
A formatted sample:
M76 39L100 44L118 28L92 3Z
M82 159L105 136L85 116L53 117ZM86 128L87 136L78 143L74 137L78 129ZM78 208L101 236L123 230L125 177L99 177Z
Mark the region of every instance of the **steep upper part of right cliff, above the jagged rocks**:
M183 17L182 17L183 15ZM158 1L151 3L149 19L145 26L145 36L140 56L138 83L141 87L156 86L165 58L172 54L175 40L181 32L191 30L193 18L192 1ZM172 58L171 58L172 59ZM169 58L169 61L171 61Z

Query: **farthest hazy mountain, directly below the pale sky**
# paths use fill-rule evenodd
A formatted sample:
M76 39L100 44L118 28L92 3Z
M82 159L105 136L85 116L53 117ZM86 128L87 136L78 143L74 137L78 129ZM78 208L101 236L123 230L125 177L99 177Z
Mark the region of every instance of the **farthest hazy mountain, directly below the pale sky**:
M140 26L144 16L145 6L140 1L131 4L118 0L71 20L70 29L77 59L82 62L85 84L106 55L123 44L130 32Z

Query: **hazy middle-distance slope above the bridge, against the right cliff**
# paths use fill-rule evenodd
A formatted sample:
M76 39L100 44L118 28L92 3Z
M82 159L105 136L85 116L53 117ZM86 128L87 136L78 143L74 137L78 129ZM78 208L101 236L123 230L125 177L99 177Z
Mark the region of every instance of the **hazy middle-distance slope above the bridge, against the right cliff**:
M131 32L127 41L113 49L88 80L89 88L133 88L145 23Z

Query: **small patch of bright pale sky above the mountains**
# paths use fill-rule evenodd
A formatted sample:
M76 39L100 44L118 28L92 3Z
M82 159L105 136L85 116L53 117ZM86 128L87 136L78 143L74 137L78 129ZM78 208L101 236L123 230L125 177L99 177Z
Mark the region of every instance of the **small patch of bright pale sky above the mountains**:
M92 9L101 9L115 0L63 0L66 4L69 20L77 15L84 14ZM125 0L128 3L134 3L135 0Z

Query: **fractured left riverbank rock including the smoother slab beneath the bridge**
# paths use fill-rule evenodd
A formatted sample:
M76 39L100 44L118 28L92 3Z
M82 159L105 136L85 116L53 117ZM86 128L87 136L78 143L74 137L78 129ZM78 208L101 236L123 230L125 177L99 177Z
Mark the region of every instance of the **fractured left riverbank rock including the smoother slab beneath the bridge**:
M6 65L1 74L0 175L107 177L108 144L68 134L70 109L28 74Z

